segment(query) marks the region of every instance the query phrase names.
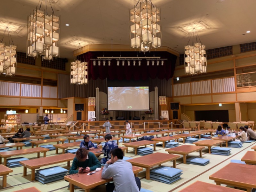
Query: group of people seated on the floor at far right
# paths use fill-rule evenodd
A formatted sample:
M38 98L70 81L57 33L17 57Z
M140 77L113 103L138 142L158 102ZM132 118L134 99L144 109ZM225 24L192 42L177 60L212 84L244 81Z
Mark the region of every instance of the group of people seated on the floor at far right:
M230 133L230 127L228 126L226 130L223 130L222 127L219 125L218 129L216 131L217 135L225 135ZM256 140L256 133L247 125L244 125L244 127L239 127L239 131L237 132L237 135L240 136L239 139L242 142L249 141L249 140Z

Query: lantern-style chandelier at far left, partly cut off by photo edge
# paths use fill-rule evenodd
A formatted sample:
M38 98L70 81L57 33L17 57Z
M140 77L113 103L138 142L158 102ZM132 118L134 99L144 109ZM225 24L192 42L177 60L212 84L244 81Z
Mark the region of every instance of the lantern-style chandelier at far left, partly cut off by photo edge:
M0 41L0 74L13 76L16 72L17 46L13 45L12 37L8 27L5 28L4 35L6 32L9 38L9 45L3 42L3 36Z

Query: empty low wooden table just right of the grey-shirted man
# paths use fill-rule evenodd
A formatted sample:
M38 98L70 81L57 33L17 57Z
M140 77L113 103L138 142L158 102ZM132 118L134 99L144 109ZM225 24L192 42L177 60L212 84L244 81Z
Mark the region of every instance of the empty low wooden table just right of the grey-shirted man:
M146 179L150 179L150 168L161 165L168 161L173 161L173 168L176 168L176 159L179 158L179 155L172 155L166 153L152 153L146 156L137 157L133 159L126 160L132 165L136 165L146 169Z

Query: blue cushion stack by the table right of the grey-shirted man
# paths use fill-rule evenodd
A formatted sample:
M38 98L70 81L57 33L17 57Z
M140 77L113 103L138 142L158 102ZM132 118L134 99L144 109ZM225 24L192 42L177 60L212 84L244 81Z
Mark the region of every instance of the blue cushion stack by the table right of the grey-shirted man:
M161 166L150 171L150 179L171 184L174 181L181 179L181 172L182 170L180 169Z

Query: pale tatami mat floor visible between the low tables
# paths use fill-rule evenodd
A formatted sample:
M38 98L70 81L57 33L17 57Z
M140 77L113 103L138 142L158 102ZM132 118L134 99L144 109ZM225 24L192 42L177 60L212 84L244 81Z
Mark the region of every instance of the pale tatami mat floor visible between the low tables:
M179 144L183 145L182 142L180 142ZM119 145L122 146L122 143L119 143ZM193 144L186 144L186 145L193 145ZM241 157L244 156L244 154L248 150L252 150L251 148L254 145L256 145L256 142L244 143L242 148L232 148L231 154L229 156L212 155L208 153L208 148L205 148L202 153L202 158L210 159L210 163L205 166L183 164L182 163L183 158L179 158L177 159L177 168L182 170L182 173L183 173L181 175L182 179L169 185L161 182L157 182L154 180L146 180L145 178L146 172L144 170L143 172L140 172L138 175L139 178L141 179L141 187L154 192L167 192L167 191L176 192L176 191L180 191L181 189L185 188L186 186L190 185L196 180L215 184L213 180L209 180L209 175L211 175L212 173L221 169L223 166L230 163L231 159L240 160ZM165 148L163 147L156 147L155 152L167 153L165 152ZM55 155L55 150L47 152L47 156L53 156L53 155ZM139 157L134 155L132 148L128 148L128 153L126 153L125 156L132 157L132 158ZM199 152L191 153L188 157L191 157L191 156L195 156L195 157L199 156ZM23 157L31 159L35 157L35 154L23 155ZM66 167L67 164L65 163L54 164L54 166L55 165L59 165L61 167L67 168ZM162 166L172 166L172 162L164 163L162 164ZM48 167L51 167L51 166L48 166ZM42 168L46 168L46 166ZM59 181L55 181L55 182L43 185L38 181L30 181L31 172L29 172L29 169L28 169L28 175L26 177L23 176L23 167L16 167L12 169L13 169L13 172L7 176L7 187L3 189L0 186L1 191L4 191L4 192L16 191L24 188L33 187L33 186L38 188L42 192L44 191L45 192L46 191L68 192L69 191L68 182L64 180L59 180ZM0 185L2 185L2 178L0 178ZM75 189L75 191L84 191L84 190L80 188L80 189ZM91 191L104 192L105 185L98 186L97 188L92 189ZM255 191L255 189L253 191Z

